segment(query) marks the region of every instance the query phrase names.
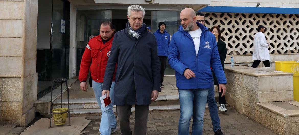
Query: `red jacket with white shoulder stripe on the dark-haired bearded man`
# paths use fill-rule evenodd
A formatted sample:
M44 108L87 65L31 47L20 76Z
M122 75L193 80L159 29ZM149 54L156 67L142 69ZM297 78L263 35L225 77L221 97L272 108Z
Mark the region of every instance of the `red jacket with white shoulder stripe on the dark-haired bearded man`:
M107 61L110 55L114 34L112 38L103 44L100 35L91 38L83 53L80 70L80 82L87 80L88 70L90 71L92 80L103 83ZM116 69L116 68L115 68ZM113 76L113 81L115 74Z

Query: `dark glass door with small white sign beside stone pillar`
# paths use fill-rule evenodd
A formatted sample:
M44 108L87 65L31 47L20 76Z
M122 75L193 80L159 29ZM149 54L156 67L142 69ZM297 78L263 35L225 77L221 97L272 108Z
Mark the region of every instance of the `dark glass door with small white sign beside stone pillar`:
M67 0L39 0L36 72L38 98L47 94L57 78L68 78L69 8Z

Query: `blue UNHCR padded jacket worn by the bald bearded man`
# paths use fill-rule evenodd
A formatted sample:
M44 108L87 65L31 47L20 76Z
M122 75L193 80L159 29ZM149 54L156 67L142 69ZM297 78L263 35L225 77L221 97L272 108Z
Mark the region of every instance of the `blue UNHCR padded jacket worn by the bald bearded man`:
M168 63L176 70L176 86L179 89L208 89L212 86L213 75L216 75L219 84L226 84L226 78L221 66L217 49L216 38L205 26L196 23L202 30L200 35L199 51L196 55L193 39L180 26L173 34L169 45ZM195 73L195 78L186 79L185 69Z

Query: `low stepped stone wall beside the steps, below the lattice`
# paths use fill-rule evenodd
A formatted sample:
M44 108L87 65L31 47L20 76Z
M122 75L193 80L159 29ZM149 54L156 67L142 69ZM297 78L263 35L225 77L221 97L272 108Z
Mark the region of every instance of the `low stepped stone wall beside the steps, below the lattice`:
M293 101L292 73L273 71L274 68L225 66L228 82L225 99L239 113L277 134L298 134L298 110L286 110L270 103L286 101L299 106L299 102Z

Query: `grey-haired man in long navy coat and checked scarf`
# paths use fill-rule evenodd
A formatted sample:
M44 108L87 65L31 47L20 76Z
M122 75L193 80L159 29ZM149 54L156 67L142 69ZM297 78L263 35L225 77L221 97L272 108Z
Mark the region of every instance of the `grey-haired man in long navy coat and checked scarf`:
M107 62L102 95L107 93L115 75L115 105L121 134L130 135L129 117L135 105L134 134L145 135L149 104L156 100L160 90L160 63L155 36L148 32L143 23L144 8L128 7L129 22L126 29L117 32L112 42Z

